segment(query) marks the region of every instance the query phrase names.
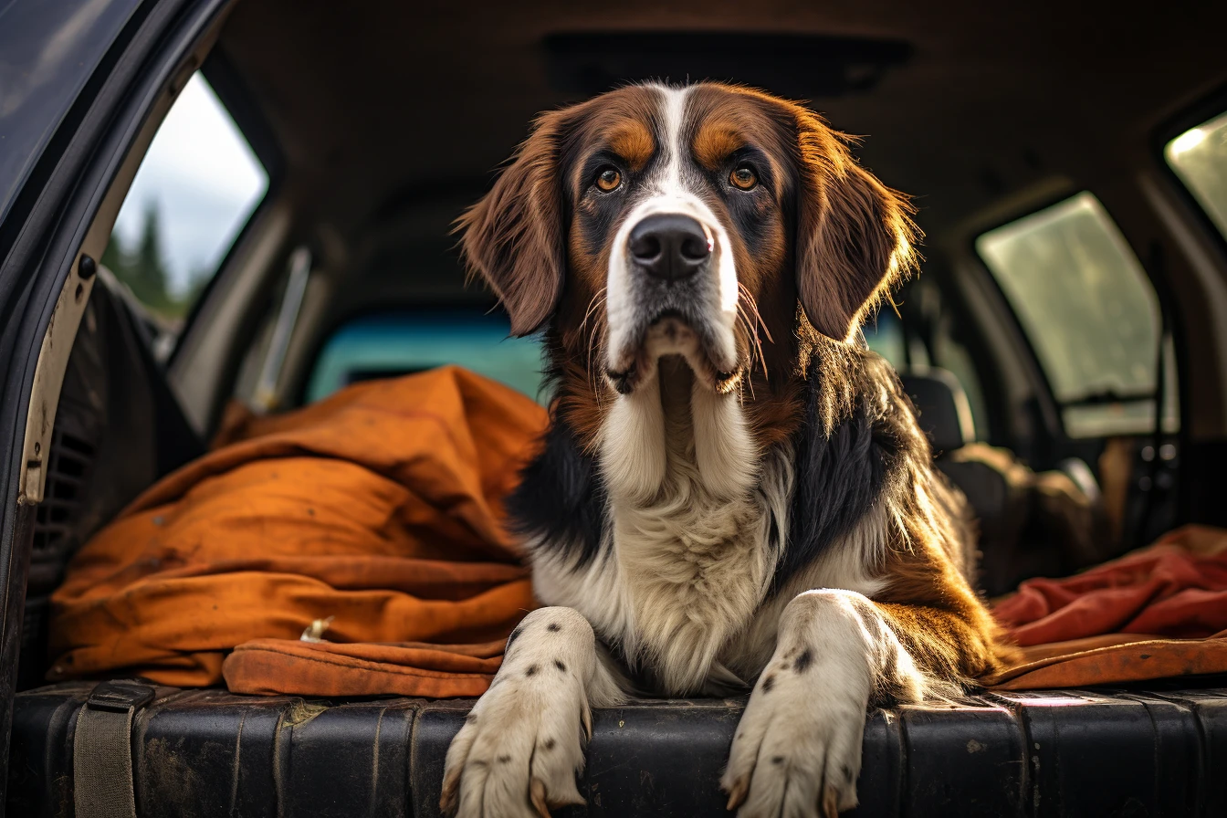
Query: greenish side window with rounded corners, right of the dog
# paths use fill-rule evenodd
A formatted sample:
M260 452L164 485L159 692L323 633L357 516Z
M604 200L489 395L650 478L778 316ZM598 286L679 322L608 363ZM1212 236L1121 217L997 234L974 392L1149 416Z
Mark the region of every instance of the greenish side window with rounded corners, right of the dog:
M1036 350L1066 433L1151 430L1158 300L1098 199L1080 193L984 233L975 248Z

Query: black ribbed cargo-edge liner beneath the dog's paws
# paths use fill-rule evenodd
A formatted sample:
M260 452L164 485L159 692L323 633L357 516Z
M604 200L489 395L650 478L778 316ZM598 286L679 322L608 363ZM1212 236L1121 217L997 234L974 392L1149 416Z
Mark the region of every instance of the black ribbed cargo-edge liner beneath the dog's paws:
M92 683L17 695L9 814L71 816ZM157 688L133 726L141 816L437 816L471 700L326 701ZM728 816L717 780L744 699L595 714L556 816ZM855 816L1227 816L1227 687L1052 690L875 710Z

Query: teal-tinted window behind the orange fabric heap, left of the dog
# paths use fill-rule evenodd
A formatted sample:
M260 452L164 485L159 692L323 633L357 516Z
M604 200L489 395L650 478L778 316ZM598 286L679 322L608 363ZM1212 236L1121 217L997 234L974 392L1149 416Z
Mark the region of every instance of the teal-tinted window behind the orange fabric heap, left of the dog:
M348 384L458 364L545 401L541 343L508 337L501 314L466 310L399 312L352 320L325 342L307 385L307 401Z

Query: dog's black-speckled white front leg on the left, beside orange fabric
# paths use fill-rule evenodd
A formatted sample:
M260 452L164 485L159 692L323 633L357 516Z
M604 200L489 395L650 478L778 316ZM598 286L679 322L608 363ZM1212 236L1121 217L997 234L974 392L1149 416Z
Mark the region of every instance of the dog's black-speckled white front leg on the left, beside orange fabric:
M573 608L534 611L507 640L503 666L452 740L439 807L460 818L531 818L584 803L575 774L593 730L590 708L622 699L588 621Z

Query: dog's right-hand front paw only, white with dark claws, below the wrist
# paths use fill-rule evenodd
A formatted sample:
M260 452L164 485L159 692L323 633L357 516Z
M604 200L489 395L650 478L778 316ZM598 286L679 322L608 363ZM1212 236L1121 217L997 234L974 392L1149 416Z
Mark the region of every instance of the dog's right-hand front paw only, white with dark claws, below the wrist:
M737 818L834 818L856 806L869 692L814 663L801 648L777 654L750 697L720 780Z

